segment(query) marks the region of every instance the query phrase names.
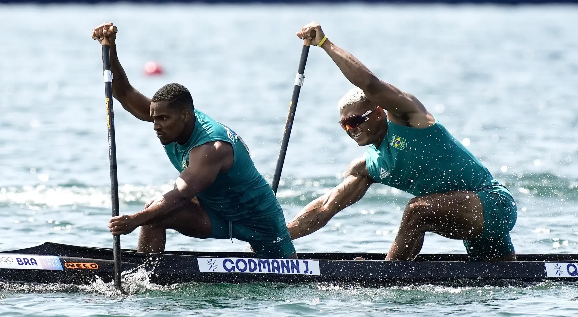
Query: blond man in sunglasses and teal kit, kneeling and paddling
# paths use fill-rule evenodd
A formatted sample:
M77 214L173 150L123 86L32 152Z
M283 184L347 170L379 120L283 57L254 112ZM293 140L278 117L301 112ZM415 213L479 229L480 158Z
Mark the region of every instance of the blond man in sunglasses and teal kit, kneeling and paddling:
M317 22L297 36L320 46L356 86L339 101L339 123L369 148L350 163L342 183L288 223L291 238L325 226L381 183L416 196L403 211L386 260L415 259L426 232L463 240L470 260L516 260L509 232L517 207L506 187L416 97L377 78L327 39Z

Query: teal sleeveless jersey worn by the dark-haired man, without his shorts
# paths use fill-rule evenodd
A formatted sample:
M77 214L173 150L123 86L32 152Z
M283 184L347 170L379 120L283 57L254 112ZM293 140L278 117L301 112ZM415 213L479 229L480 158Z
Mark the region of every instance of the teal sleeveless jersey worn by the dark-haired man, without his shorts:
M195 109L195 128L186 144L165 145L165 152L179 172L189 164L188 154L195 146L212 141L228 142L233 147L234 161L227 172L221 172L207 189L197 194L208 211L228 221L244 223L250 216L283 215L283 210L269 183L257 171L249 149L238 135L205 113Z

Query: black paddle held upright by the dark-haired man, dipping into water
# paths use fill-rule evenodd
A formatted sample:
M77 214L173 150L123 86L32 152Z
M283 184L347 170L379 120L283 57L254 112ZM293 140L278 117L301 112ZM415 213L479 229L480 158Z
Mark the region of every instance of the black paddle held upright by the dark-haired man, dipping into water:
M110 32L117 31L115 26L109 28ZM112 216L119 215L118 209L118 176L116 164L116 139L114 138L114 111L112 106L112 72L110 72L110 45L108 37L105 36L102 44L102 70L105 79L105 100L106 100L106 123L109 137L109 161L110 161L110 200L112 201ZM123 290L121 285L120 267L120 235L113 235L113 263L114 263L114 286L118 290Z

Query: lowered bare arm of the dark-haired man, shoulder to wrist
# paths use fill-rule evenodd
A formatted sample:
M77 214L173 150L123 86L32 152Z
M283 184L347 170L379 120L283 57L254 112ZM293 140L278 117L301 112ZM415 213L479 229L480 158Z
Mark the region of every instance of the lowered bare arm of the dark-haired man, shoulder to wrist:
M137 226L144 226L167 218L172 211L183 207L203 189L209 187L220 171L227 171L233 163L233 148L227 142L210 142L193 148L187 167L175 181L175 188L131 217Z

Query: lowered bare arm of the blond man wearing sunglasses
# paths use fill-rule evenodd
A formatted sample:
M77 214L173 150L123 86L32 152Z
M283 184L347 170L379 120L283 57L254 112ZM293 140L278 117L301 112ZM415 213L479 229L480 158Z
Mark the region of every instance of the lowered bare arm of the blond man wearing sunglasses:
M360 200L372 183L365 158L356 158L349 164L342 183L310 202L287 224L291 239L301 238L325 226L336 213Z

